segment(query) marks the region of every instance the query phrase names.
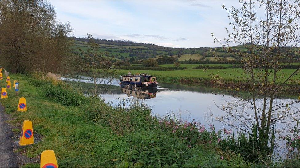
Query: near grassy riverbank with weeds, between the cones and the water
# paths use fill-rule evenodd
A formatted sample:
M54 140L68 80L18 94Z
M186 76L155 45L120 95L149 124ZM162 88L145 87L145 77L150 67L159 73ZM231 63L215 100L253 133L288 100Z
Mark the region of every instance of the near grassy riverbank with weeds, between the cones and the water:
M34 133L42 137L22 155L38 157L42 151L52 149L60 167L249 165L234 155L223 159L225 156L216 152L213 144L198 144L195 140L191 144L181 139L182 135L161 124L170 121L153 118L148 107L141 104L114 108L101 99L84 97L63 82L54 86L50 81L21 74L10 74L10 78L19 81L20 93L15 95L9 89L8 99L1 99L6 113L16 125L31 120ZM4 80L1 83L5 85ZM16 111L20 97L26 98L27 112ZM29 166L37 167L39 163Z

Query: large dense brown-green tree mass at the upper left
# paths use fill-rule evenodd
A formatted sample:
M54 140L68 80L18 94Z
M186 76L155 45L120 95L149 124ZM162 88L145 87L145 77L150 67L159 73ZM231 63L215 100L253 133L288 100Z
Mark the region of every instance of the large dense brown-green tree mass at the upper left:
M70 24L55 21L46 1L0 2L1 64L13 73L61 72L69 61Z

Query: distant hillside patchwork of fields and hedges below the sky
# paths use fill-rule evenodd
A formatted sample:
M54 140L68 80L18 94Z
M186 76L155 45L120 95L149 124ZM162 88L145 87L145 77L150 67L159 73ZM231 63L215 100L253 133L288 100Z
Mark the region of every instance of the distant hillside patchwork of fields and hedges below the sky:
M71 37L74 39L74 46L72 50L74 53L79 53L81 50L87 50L88 39ZM158 59L164 56L174 57L176 60L182 61L219 61L215 55L225 58L229 61L236 61L238 58L235 55L223 50L222 47L218 48L171 48L163 47L156 44L148 43L134 43L132 41L121 40L103 40L95 39L95 42L100 45L99 52L105 52L106 58L111 60L124 60L124 59ZM243 45L233 46L236 51L247 52L247 48ZM291 48L298 50L298 48Z

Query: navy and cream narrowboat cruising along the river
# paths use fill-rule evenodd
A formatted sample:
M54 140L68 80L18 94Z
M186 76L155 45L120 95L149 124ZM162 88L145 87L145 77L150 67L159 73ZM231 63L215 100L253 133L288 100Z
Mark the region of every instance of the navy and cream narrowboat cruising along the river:
M136 74L136 75L122 75L120 79L121 85L134 86L134 87L150 87L156 88L158 83L156 77L148 74Z

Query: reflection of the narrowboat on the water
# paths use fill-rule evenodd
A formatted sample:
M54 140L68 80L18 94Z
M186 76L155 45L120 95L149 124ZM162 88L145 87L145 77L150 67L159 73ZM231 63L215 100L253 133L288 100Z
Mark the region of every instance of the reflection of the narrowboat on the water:
M152 99L156 97L157 88L129 87L121 86L122 93L139 99Z

